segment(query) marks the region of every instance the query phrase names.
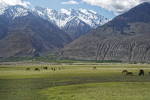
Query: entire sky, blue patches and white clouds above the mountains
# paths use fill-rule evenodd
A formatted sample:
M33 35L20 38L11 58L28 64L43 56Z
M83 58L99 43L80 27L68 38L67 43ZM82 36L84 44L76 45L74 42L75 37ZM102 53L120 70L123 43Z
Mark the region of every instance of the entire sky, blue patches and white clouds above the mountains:
M150 0L0 0L10 5L42 6L59 10L85 8L94 10L108 18L128 11L130 8Z

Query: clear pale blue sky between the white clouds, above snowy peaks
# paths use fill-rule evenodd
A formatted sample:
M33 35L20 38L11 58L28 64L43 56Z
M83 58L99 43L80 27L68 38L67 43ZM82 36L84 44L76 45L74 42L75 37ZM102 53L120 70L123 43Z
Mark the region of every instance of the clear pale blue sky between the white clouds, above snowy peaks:
M80 0L76 0L77 2L79 2L79 4L62 4L63 2L68 2L68 0L26 0L26 1L29 1L33 6L48 7L56 10L59 10L61 8L65 8L65 9L85 8L85 9L94 10L99 14L104 15L107 18L113 18L115 16L112 11L108 11L98 6L92 6L85 2L81 2Z

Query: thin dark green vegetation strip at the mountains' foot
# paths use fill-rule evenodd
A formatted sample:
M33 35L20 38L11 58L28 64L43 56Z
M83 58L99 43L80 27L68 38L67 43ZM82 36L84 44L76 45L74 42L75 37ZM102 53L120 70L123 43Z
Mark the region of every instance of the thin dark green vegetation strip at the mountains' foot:
M121 61L115 60L77 60L77 59L65 59L65 58L56 58L56 57L9 57L9 58L0 58L0 62L17 62L17 61L42 61L42 62L54 62L54 63L121 63Z

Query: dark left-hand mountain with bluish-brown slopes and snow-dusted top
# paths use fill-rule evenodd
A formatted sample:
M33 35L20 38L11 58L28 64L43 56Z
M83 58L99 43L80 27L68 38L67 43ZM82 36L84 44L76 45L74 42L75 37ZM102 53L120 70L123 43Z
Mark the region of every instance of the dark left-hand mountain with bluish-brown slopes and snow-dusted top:
M56 25L22 6L10 6L0 15L0 57L38 56L70 41Z

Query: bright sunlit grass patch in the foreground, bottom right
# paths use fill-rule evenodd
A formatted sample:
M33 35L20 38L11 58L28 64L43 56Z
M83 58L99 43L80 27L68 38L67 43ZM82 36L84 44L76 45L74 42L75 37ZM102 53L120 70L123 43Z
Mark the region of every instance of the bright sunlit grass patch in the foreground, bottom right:
M48 100L149 100L149 88L149 82L108 82L58 86L41 93Z

